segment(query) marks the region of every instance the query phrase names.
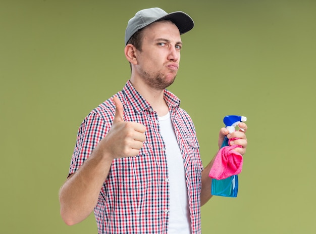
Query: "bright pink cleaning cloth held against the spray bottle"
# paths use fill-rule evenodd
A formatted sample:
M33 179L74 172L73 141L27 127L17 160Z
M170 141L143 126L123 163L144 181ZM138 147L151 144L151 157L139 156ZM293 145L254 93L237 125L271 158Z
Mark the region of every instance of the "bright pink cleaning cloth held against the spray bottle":
M230 139L229 142L233 140ZM219 150L208 174L210 178L226 179L241 172L243 157L233 150L237 147L241 148L241 146L233 145L225 146Z

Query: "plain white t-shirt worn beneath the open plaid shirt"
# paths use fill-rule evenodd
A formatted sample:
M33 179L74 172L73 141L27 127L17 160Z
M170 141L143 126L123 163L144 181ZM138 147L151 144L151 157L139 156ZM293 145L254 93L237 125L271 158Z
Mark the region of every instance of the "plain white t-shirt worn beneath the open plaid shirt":
M166 144L170 185L168 234L190 234L191 218L183 158L173 129L170 113L159 117L161 135Z

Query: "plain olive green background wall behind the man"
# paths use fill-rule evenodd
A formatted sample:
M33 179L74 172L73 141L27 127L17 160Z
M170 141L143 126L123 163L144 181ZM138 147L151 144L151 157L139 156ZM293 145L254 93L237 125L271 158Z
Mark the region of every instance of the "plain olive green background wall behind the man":
M228 114L248 118L237 198L202 207L203 233L315 233L316 1L0 0L0 233L67 226L58 192L78 127L130 76L124 32L161 7L195 21L170 86L191 115L203 164Z

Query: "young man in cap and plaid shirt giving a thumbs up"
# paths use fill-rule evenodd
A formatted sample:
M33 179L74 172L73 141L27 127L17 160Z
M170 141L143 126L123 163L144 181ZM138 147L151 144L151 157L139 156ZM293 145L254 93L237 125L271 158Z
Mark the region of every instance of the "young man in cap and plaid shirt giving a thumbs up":
M82 122L61 215L75 224L94 209L99 233L200 233L200 206L212 180L203 169L194 125L166 89L177 75L180 34L193 28L183 12L144 9L129 20L125 56L131 77L123 90ZM243 129L247 125L240 123ZM225 128L220 130L219 146ZM234 144L245 153L243 131Z

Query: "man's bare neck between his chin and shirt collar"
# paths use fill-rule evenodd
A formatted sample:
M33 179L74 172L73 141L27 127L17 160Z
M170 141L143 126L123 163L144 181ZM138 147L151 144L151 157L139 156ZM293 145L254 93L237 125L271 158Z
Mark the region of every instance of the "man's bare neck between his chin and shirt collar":
M169 107L164 99L164 89L156 90L148 85L130 80L133 87L140 93L140 95L150 104L158 116L164 116L169 112Z

